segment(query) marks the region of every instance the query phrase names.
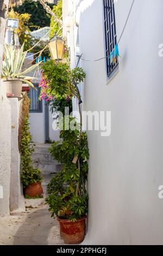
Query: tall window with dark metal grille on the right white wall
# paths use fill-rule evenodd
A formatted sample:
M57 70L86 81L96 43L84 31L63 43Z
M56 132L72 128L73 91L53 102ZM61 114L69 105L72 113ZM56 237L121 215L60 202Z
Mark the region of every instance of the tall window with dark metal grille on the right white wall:
M118 69L118 60L111 62L109 58L111 52L117 44L114 0L103 0L104 2L104 23L105 23L105 47L106 47L106 68L110 77Z

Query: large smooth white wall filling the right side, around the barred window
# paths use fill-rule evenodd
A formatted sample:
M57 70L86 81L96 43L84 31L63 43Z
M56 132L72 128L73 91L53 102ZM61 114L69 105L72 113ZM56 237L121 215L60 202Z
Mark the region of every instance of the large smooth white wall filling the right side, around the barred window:
M117 38L131 0L115 4ZM105 56L102 0L83 0L80 53ZM84 5L85 4L85 5ZM96 245L162 244L163 59L162 0L136 0L119 44L120 69L106 84L105 60L81 62L86 71L83 108L111 111L111 136L88 131L89 215L85 242Z

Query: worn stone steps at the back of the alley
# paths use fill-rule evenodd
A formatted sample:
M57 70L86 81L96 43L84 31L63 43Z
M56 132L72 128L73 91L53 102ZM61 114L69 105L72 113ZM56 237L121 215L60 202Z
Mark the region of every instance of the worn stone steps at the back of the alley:
M61 164L53 160L48 148L52 144L33 143L34 153L32 154L32 161L34 168L41 170L42 174L55 174L61 169Z

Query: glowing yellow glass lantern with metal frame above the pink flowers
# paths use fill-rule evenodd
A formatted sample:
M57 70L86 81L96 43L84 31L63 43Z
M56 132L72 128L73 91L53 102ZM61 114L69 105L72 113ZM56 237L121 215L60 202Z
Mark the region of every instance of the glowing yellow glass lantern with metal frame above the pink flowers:
M56 33L51 40L48 41L49 51L52 58L61 60L64 54L64 40Z

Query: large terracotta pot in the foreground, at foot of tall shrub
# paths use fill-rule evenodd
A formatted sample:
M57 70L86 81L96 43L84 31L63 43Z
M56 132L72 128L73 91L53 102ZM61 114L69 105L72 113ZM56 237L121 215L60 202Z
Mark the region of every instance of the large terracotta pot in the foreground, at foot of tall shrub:
M69 220L61 220L57 218L60 224L60 234L65 243L76 244L81 243L85 236L85 220L86 217L80 218L76 222Z

